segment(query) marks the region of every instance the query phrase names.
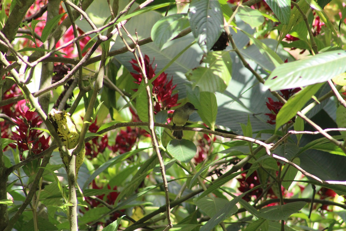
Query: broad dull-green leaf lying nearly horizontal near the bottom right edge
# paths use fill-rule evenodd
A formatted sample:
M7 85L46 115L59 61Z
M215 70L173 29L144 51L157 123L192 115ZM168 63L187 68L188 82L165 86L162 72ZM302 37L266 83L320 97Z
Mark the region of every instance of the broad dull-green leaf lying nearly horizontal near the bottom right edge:
M306 205L306 202L297 201L297 202L291 202L284 205L270 206L270 207L262 208L260 210L260 215L264 219L271 220L271 221L279 221L279 220L287 221L290 215L298 212L305 205Z

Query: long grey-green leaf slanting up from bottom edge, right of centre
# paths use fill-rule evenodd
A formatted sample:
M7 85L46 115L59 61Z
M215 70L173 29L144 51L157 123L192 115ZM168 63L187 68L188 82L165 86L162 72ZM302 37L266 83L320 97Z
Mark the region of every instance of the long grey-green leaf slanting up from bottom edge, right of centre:
M200 231L210 231L212 230L216 225L218 225L221 221L225 220L230 215L236 213L238 211L237 203L239 200L244 196L243 194L240 196L237 196L230 202L228 202L223 208L221 208L213 217L210 218L210 220L204 224Z

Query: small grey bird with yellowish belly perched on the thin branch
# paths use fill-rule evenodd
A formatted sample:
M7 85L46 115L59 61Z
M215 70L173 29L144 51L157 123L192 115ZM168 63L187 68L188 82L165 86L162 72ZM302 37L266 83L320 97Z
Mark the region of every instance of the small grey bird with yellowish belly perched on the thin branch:
M185 126L186 122L189 119L189 116L195 110L198 109L196 109L191 103L186 103L183 106L175 109L172 116L173 128L175 126ZM175 137L175 139L181 140L183 137L183 131L173 131L172 135Z

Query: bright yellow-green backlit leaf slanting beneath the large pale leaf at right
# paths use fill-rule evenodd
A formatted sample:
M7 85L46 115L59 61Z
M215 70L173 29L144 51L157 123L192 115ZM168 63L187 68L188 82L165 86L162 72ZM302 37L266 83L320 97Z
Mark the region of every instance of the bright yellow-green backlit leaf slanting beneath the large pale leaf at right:
M278 130L281 125L290 121L290 119L292 119L292 117L294 117L297 112L304 107L311 97L315 95L322 85L324 85L324 83L310 85L289 98L287 103L282 106L279 113L276 115L275 130Z

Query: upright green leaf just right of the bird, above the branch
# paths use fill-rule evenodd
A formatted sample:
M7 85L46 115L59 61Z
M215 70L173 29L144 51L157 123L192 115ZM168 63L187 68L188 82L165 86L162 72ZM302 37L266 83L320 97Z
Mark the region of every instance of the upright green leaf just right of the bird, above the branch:
M214 130L217 116L217 101L215 94L212 92L200 92L200 106L197 111L202 121Z

